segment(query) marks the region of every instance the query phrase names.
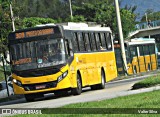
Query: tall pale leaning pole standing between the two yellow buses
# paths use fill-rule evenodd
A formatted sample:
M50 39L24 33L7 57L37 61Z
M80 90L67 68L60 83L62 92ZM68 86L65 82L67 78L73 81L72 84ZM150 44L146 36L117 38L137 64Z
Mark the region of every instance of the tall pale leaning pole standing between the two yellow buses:
M121 44L122 59L124 62L125 70L127 72L126 53L125 53L124 41L123 41L123 32L122 32L122 24L121 24L121 17L120 17L120 11L119 11L119 3L118 3L118 0L114 0L114 1L115 1L115 7L116 7L117 24L118 24L119 38L120 38L120 44Z

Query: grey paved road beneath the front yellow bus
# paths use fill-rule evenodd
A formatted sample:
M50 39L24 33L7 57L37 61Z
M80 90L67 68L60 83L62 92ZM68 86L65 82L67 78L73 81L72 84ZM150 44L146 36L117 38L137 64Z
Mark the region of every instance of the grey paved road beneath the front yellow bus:
M19 100L0 103L0 108L55 108L67 104L103 100L123 95L140 93L141 91L137 92L130 89L132 88L134 83L148 76L150 75L113 81L107 83L106 88L103 90L91 91L89 87L84 88L83 93L79 96L68 95L66 97L56 98L53 94L50 94L45 95L44 99L35 102L26 102L26 100L22 98Z

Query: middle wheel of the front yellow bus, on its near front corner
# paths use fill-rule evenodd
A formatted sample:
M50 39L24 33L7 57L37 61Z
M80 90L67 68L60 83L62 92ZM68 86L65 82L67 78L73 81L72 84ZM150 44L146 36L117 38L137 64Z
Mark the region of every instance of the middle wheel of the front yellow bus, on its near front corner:
M72 89L73 95L80 95L82 93L82 82L80 75L77 74L77 87Z

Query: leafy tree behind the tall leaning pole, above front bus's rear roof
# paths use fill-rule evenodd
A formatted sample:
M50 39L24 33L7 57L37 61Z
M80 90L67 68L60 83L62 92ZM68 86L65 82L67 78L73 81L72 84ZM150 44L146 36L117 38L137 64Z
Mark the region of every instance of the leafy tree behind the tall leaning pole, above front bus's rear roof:
M87 22L97 22L108 26L114 34L117 34L116 12L113 3L113 0L102 0L94 4L84 3L81 7L73 6L74 15L83 16ZM133 12L135 9L136 7L128 7L120 10L124 37L134 30L136 15Z

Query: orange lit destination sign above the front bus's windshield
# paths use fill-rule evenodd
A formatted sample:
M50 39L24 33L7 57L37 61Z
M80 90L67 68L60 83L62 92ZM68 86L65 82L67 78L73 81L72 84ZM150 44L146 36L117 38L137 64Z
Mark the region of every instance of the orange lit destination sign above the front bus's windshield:
M41 36L41 35L47 35L47 34L54 34L54 29L41 29L41 30L32 30L27 32L20 32L15 34L16 39L22 39L25 37L34 37L34 36Z

